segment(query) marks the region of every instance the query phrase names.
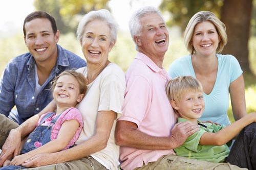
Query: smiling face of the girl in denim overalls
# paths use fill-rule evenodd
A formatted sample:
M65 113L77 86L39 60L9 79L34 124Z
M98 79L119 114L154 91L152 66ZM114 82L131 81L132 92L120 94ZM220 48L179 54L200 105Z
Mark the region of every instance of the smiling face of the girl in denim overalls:
M59 107L75 107L84 94L80 94L79 83L70 75L60 76L53 89L53 99Z

